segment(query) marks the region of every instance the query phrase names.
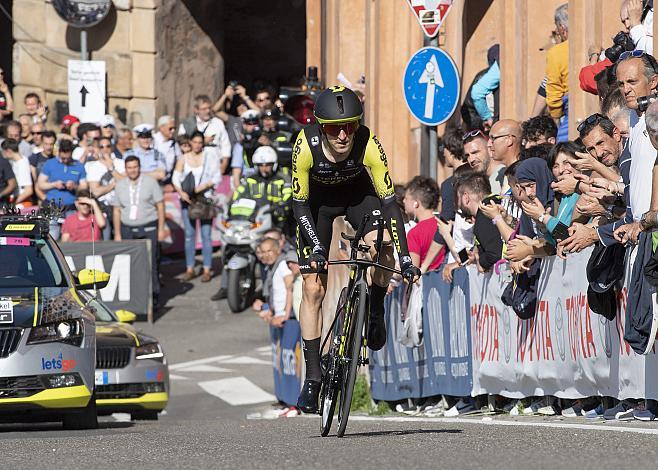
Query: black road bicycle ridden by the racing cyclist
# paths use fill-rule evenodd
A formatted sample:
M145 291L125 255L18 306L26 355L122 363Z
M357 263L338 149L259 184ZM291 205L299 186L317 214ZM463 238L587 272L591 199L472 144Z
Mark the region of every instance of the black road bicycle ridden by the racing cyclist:
M331 430L336 405L338 405L336 435L342 437L345 434L359 366L369 363L366 339L370 299L366 276L368 268L376 267L402 274L397 269L379 263L386 224L380 211L373 211L372 216L376 217L375 225L377 227L375 259L370 261L363 257L359 258L360 253L366 254L370 250L370 246L360 243L371 218L370 214L366 214L353 237L341 233L342 238L350 242L350 259L327 262L328 265L347 265L350 267L350 271L347 286L341 291L336 315L320 349L325 351L327 342L330 341L329 350L320 361L322 368L320 415L322 416L321 435L323 437L327 436ZM390 242L388 243L390 244Z

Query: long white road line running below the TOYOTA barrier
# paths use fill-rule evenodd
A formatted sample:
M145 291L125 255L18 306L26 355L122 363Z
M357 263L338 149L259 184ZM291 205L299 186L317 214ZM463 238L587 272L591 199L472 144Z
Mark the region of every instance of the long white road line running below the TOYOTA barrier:
M484 424L487 426L526 426L526 427L543 427L558 429L582 429L585 431L612 431L612 432L631 432L636 434L657 434L658 429L631 428L626 426L617 426L615 422L606 424L576 424L576 423L546 423L531 421L505 421L491 419L487 421L466 419L466 418L405 418L402 416L381 417L374 416L350 416L350 421L392 421L396 423L436 423L436 424Z

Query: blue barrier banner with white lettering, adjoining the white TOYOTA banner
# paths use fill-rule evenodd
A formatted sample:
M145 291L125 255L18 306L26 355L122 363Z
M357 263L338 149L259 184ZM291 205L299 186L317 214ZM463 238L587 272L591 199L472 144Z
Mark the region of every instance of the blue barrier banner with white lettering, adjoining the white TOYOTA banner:
M396 401L446 394L465 396L472 388L469 285L465 270L452 285L440 271L423 275L423 344L407 348L397 341L406 286L386 296L386 346L370 358L371 394Z

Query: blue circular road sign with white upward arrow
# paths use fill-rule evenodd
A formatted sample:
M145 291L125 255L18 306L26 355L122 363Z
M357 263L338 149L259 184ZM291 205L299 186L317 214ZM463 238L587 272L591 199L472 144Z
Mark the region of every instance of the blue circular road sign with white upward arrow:
M428 126L446 122L459 103L459 73L438 47L423 47L404 71L404 98L411 114Z

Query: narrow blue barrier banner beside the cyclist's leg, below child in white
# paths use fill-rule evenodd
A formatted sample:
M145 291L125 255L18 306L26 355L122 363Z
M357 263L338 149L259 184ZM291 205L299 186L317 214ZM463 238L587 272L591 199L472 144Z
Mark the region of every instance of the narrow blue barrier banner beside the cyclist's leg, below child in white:
M302 389L302 330L299 322L290 319L283 328L270 326L274 395L291 406L297 404Z

